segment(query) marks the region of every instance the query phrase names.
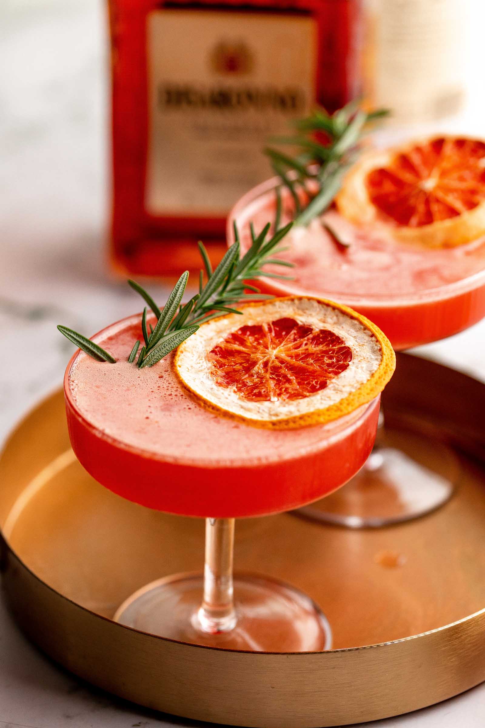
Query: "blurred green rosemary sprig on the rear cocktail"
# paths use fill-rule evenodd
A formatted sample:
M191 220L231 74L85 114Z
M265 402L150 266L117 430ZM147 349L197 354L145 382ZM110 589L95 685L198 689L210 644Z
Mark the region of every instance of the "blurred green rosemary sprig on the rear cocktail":
M286 188L292 198L294 222L308 225L332 204L348 167L361 151L361 140L369 125L388 113L386 109L366 113L358 108L356 101L332 115L318 108L296 122L296 135L273 139L275 143L290 144L298 150L292 157L278 149L265 149L281 181L276 188L275 229L281 219L281 188Z

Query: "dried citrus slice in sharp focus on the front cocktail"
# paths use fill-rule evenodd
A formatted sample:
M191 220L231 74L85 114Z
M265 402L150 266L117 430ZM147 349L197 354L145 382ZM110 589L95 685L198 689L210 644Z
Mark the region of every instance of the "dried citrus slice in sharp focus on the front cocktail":
M177 376L204 405L257 427L323 424L377 397L394 371L382 331L347 306L289 296L244 304L177 349Z

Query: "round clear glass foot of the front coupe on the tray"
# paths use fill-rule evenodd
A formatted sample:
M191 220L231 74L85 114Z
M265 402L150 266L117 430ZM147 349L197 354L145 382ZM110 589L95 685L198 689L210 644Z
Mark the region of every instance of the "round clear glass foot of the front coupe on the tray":
M332 631L318 606L297 589L273 579L234 577L235 619L210 630L200 619L202 574L176 574L152 582L121 604L123 625L177 641L251 652L321 652Z

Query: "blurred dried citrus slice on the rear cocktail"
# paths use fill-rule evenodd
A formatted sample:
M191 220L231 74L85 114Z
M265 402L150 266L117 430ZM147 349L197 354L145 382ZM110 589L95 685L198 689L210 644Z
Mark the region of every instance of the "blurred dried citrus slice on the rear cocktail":
M485 234L485 141L439 136L375 150L351 168L336 198L354 223L452 247Z

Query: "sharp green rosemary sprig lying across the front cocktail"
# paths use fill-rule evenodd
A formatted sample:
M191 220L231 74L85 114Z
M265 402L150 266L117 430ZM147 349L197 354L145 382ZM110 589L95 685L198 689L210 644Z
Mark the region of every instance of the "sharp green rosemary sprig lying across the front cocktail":
M234 223L234 233L236 242L228 248L225 256L215 270L209 261L207 250L201 242L199 242L199 250L204 263L204 271L199 276L199 293L182 304L183 294L188 282L188 271L185 271L175 283L172 292L167 298L167 303L160 309L153 301L153 298L146 292L142 286L134 280L129 280L129 285L140 293L145 303L150 306L156 316L156 325L148 333L147 328L147 306L143 309L142 314L142 333L144 345L138 353L140 341L135 342L128 356L129 363L135 363L137 358L137 366L139 368L150 367L167 356L172 349L178 347L185 339L192 336L199 329L201 323L211 320L221 313L241 313L236 308L239 301L261 300L262 298L272 298L260 293L260 289L255 285L246 283L246 280L256 281L262 276L271 276L278 278L287 278L286 275L276 273L267 273L263 271L265 264L292 266L287 261L275 258L275 254L281 251L279 243L293 223L288 223L281 229L268 237L270 231L270 223L265 225L259 234L252 230L252 245L249 246L244 256L241 256L241 245L239 241L239 231ZM206 283L204 285L204 272ZM251 293L247 293L249 290ZM106 352L97 344L82 336L76 331L66 328L65 326L57 327L64 336L73 341L80 349L92 356L97 361L107 361L116 363L116 359Z

